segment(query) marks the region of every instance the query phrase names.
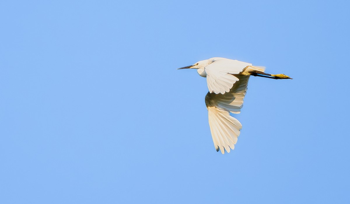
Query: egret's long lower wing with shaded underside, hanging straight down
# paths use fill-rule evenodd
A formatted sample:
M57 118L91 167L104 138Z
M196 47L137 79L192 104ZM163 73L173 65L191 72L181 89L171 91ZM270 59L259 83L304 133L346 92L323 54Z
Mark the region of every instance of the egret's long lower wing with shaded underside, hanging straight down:
M240 113L247 91L249 76L239 76L239 80L228 93L208 93L205 104L208 108L209 126L214 146L221 153L234 149L242 125L230 115Z

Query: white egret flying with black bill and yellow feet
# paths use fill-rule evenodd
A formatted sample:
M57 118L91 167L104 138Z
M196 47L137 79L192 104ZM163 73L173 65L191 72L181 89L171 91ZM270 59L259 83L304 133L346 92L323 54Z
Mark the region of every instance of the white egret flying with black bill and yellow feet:
M216 151L230 152L234 149L242 129L240 122L230 113L240 113L250 76L272 79L291 79L278 74L265 73L265 68L233 59L213 57L179 69L197 69L207 77L209 92L205 96L209 126Z

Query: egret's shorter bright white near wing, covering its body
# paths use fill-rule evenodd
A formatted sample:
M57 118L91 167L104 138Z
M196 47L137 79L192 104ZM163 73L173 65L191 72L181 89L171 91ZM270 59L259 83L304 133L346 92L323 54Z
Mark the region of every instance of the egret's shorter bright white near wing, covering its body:
M216 94L229 92L233 84L239 80L233 74L239 74L244 68L251 65L233 59L214 59L214 62L204 67L204 71L207 73L209 92Z

